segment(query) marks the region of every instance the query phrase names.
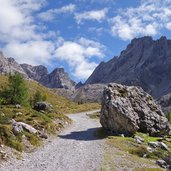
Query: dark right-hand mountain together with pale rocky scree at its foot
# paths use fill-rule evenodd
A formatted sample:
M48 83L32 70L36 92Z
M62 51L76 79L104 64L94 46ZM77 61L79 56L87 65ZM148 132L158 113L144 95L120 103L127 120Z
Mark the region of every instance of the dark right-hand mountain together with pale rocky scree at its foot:
M75 91L60 89L57 92L76 102L101 102L102 89L107 83L140 86L159 100L164 112L168 112L171 108L168 103L168 93L171 92L168 74L171 70L170 55L171 40L166 37L159 40L151 37L133 39L119 57L101 62L85 84L77 84Z

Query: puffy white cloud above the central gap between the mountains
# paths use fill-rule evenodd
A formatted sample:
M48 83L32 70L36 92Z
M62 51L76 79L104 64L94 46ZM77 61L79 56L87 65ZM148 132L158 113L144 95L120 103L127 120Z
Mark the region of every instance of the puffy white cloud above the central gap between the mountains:
M80 38L76 42L63 41L56 49L55 56L62 61L69 63L74 72L74 76L80 79L86 79L97 66L90 59L104 56L104 46L98 42Z

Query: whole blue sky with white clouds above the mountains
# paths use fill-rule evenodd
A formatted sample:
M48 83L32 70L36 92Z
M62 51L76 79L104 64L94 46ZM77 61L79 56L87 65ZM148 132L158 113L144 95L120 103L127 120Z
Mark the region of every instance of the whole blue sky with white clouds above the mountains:
M85 81L133 38L171 39L171 0L0 0L0 50Z

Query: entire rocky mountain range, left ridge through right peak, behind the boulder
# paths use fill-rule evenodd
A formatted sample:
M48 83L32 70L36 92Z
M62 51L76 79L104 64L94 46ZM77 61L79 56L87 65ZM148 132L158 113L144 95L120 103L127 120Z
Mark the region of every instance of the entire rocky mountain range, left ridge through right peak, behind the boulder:
M25 78L33 79L48 88L57 88L57 93L69 100L101 102L102 90L110 82L142 87L147 93L159 100L164 112L170 111L168 102L171 92L171 40L161 37L133 39L119 57L108 62L101 62L88 80L76 84L63 68L56 68L51 73L45 66L19 65L13 58L5 58L0 53L0 73L19 72ZM168 95L167 95L168 94ZM166 100L166 102L165 102Z

